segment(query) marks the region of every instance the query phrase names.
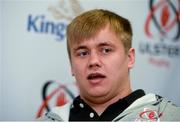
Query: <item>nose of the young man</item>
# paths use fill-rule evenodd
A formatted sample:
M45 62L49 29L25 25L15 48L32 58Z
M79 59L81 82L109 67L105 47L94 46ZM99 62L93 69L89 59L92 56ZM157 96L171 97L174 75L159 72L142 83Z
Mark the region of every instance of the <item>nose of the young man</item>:
M101 60L100 56L96 52L92 52L89 57L89 64L88 67L91 69L96 69L101 67Z

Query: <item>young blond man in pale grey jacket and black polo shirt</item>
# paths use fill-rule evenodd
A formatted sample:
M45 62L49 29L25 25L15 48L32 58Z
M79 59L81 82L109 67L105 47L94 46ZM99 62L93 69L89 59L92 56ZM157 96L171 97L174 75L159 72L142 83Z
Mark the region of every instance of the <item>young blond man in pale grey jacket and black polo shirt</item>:
M80 95L40 120L178 121L180 108L155 94L132 91L135 62L130 22L108 10L76 17L67 27L71 70Z

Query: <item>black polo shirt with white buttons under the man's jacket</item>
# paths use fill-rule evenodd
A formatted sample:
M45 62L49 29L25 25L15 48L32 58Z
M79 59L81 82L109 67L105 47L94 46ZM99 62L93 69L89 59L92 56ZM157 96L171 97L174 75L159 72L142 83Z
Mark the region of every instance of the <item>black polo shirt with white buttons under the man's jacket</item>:
M130 106L135 100L144 96L143 90L139 89L132 92L130 95L119 99L117 102L111 104L106 110L99 116L88 104L80 98L76 97L73 101L72 108L70 110L71 120L86 120L86 121L108 121L113 120L116 116L122 113L128 106Z

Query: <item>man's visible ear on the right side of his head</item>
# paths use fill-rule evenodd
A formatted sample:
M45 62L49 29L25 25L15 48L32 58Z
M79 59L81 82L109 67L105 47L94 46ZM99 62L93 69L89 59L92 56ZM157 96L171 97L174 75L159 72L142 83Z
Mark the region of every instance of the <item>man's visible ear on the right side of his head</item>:
M131 69L133 68L135 63L135 49L130 48L128 51L128 68Z

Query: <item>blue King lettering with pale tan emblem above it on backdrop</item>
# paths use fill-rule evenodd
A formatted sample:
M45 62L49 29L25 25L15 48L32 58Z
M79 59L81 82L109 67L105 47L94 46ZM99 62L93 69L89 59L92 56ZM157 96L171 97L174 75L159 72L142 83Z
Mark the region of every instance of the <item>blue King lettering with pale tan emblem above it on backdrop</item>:
M67 23L74 16L81 13L83 9L77 0L59 0L58 4L50 5L48 11L53 17L51 20L44 14L29 14L27 17L27 31L36 34L53 35L55 40L63 41Z

